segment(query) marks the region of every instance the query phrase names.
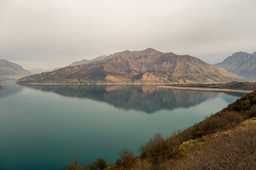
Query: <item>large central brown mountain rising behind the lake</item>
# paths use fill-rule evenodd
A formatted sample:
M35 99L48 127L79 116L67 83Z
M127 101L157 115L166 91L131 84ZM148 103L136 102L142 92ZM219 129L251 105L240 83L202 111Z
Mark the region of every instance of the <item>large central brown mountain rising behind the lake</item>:
M241 77L196 57L148 48L125 50L103 60L24 77L18 83L196 83L239 79Z

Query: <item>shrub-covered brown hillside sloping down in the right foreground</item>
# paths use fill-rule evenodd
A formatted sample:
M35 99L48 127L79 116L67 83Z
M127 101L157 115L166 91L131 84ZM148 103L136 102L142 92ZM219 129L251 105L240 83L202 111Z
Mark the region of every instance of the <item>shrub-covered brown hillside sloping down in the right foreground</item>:
M169 138L156 133L132 151L117 152L114 166L104 158L79 165L73 157L64 170L255 170L256 91Z

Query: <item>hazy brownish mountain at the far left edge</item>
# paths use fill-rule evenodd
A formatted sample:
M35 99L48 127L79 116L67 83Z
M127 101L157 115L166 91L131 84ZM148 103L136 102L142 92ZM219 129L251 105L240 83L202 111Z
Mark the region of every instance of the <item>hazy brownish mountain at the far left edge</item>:
M31 75L31 72L20 65L0 59L0 80L16 80L28 75Z

